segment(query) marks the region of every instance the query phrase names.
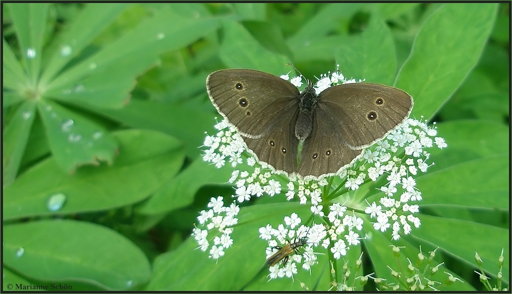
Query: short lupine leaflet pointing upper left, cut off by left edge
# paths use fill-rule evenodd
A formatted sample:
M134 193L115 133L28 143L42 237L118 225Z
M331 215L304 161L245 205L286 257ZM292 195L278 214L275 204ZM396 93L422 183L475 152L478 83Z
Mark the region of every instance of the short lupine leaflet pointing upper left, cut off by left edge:
M11 89L11 91L19 93L29 88L28 77L5 38L2 38L2 81L4 93L5 89ZM15 102L6 102L5 97L2 97L4 107Z

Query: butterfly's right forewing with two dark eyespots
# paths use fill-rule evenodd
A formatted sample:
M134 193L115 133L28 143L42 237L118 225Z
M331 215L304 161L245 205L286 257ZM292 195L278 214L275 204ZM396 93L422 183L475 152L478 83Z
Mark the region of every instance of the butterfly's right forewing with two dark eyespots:
M375 83L346 83L319 95L317 112L333 117L333 129L352 149L362 149L385 136L407 118L412 109L409 94Z

